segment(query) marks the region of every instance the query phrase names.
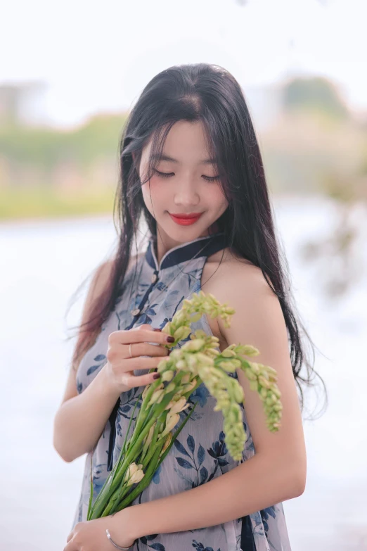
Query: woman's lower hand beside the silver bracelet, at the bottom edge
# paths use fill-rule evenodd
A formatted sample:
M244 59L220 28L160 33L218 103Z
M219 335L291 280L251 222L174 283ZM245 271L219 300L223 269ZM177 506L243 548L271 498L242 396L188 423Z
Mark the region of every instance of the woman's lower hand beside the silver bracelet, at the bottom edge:
M124 531L123 526L124 521L121 514L118 517L118 524L116 519L112 518L112 515L92 521L78 522L67 536L67 544L63 551L112 551L115 546L108 539L105 532L106 528L110 531L111 538L117 545L130 547L135 540L128 534L126 536L121 535L121 532Z

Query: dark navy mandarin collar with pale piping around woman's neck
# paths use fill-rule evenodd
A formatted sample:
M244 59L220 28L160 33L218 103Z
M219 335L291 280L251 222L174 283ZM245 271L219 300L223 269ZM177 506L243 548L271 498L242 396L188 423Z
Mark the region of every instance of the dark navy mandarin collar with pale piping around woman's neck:
M180 262L186 262L194 257L208 257L227 246L227 236L224 232L198 237L197 239L193 239L193 241L187 241L186 243L181 243L181 245L169 249L169 251L163 255L158 265L154 249L155 239L155 236L150 236L145 258L148 265L156 271L165 270L165 268L170 268Z

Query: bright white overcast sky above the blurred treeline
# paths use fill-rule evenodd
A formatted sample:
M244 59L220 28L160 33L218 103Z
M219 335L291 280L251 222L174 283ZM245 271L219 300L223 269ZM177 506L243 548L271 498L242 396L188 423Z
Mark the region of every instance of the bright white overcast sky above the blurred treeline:
M46 112L72 125L129 108L170 65L205 61L246 87L326 75L367 109L365 0L11 0L0 84L45 81Z

